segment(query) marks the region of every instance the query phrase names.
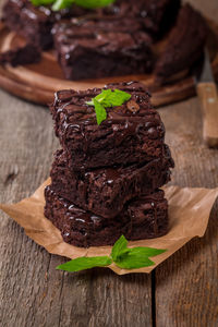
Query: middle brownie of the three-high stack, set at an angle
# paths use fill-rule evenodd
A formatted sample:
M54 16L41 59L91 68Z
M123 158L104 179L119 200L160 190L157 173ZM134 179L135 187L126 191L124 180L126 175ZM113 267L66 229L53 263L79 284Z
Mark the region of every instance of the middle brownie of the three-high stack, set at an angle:
M169 182L172 167L173 160L167 146L162 146L159 158L148 164L81 172L70 169L64 152L58 150L50 177L52 189L60 196L83 209L112 218L122 210L128 201L149 194Z

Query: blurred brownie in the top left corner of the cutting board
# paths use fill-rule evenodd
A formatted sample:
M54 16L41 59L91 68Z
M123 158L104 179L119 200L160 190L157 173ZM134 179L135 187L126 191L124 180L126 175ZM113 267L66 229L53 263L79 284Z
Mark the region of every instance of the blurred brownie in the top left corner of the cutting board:
M80 16L86 10L71 9L53 12L49 7L35 7L29 0L8 0L3 7L3 21L11 29L41 49L52 44L51 28L56 22L68 16Z

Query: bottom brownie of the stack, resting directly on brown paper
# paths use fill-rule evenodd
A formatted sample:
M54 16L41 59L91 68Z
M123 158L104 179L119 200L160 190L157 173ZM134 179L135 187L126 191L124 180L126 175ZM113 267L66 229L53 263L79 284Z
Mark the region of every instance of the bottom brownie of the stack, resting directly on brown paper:
M45 216L75 246L112 245L120 235L128 240L158 238L168 231L168 204L164 192L129 203L113 219L105 219L60 197L49 185L45 190Z

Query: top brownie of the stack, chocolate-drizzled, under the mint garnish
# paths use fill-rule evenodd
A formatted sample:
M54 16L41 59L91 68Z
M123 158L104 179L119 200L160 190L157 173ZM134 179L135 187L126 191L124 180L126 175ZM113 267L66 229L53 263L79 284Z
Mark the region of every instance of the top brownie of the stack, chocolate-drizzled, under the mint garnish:
M60 90L50 106L56 135L75 170L148 162L162 153L165 126L152 108L145 86L130 82L109 84L107 88L124 90L132 97L120 107L108 108L108 118L100 125L94 107L86 105L101 93L99 88Z

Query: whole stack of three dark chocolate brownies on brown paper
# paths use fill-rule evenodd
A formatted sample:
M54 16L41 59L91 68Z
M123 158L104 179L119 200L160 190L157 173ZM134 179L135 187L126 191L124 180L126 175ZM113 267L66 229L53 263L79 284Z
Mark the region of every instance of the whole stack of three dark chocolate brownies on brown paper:
M62 146L55 155L51 184L45 190L45 216L76 246L157 238L168 231L168 204L159 190L170 180L173 160L165 144L165 126L137 82L105 89L131 95L107 108L96 122L86 101L101 89L60 90L50 106Z

